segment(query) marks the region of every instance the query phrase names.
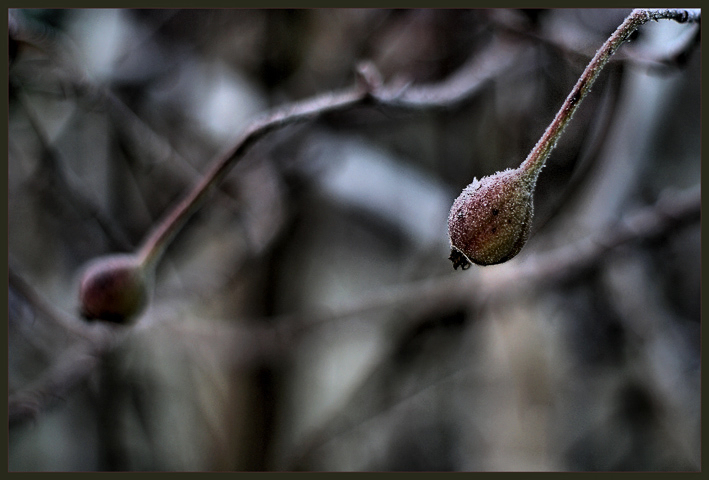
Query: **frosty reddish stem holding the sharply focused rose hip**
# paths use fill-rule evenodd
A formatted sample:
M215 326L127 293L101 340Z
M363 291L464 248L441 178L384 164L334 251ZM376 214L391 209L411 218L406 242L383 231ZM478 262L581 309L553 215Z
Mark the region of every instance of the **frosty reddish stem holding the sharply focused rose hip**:
M529 174L536 179L549 154L556 146L556 142L564 132L564 128L571 120L576 109L578 109L581 101L591 90L593 82L596 81L596 78L598 78L598 75L601 73L606 63L608 63L611 55L615 53L618 47L620 47L638 27L650 20L657 21L660 19L675 20L679 23L699 22L701 20L701 10L646 8L633 10L616 31L608 37L608 40L606 40L601 48L598 49L591 59L591 62L576 82L576 85L574 85L571 93L566 97L566 100L554 117L554 120L552 120L551 124L544 132L544 135L542 135L527 158L522 162L520 168L529 172Z

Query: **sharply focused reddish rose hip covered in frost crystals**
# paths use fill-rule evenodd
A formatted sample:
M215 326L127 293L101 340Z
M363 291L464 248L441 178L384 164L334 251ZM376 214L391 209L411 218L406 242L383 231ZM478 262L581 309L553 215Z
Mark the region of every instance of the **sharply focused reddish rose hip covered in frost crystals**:
M522 250L532 225L536 177L508 169L475 179L463 190L448 216L455 269L503 263Z

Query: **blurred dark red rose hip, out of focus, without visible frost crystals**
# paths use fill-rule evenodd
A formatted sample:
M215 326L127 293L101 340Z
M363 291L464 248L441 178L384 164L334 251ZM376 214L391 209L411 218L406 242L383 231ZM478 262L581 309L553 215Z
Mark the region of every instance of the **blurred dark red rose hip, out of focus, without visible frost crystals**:
M79 301L87 320L129 323L148 300L144 268L133 255L112 255L91 262L84 271Z

